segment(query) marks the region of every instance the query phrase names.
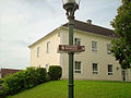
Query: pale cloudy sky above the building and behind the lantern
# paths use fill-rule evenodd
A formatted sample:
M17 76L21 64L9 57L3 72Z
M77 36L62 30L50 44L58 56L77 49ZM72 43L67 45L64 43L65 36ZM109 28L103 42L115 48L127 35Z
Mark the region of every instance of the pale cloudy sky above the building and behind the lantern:
M112 29L121 0L81 0L75 20ZM67 23L62 0L0 0L0 68L29 66L28 46Z

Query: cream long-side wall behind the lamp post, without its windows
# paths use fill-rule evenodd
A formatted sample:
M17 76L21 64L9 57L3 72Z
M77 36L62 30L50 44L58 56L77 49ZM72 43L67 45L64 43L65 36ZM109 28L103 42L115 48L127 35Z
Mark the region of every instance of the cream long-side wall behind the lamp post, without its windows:
M62 44L68 44L68 29L63 28L62 30ZM76 79L104 79L104 81L122 81L121 78L121 69L119 63L115 60L111 54L107 54L107 44L111 42L111 38L95 35L92 33L74 30L74 38L81 38L81 45L85 46L85 52L74 56L74 61L82 62L82 73L75 73L74 78ZM92 52L92 40L97 41L98 51ZM63 78L68 78L68 54L62 53L62 66L63 66ZM98 63L98 74L93 74L92 63ZM107 64L112 64L114 75L108 75ZM117 68L119 68L117 70Z

